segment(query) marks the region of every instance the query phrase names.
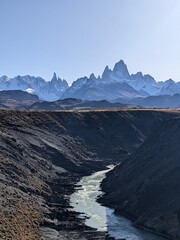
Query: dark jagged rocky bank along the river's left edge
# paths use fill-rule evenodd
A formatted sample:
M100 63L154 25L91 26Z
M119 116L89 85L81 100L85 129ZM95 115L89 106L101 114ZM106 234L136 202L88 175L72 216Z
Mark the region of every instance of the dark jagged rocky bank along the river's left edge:
M86 175L89 175L87 172ZM41 232L48 240L99 239L113 240L106 231L97 231L85 224L81 212L70 206L70 195L76 191L77 182L83 174L65 174L51 183L52 195L46 199L49 213L41 224Z

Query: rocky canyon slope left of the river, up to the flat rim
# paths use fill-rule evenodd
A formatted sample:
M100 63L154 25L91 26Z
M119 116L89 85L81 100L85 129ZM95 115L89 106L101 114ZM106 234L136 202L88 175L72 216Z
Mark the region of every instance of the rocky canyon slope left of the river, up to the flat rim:
M85 174L138 148L170 111L0 111L0 239L105 239L68 202ZM23 230L22 230L23 229ZM41 231L40 231L41 229ZM63 230L63 231L62 231Z

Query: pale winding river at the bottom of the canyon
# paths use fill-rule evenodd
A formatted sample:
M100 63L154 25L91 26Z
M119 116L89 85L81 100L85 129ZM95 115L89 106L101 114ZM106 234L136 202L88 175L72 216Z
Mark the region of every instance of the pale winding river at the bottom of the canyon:
M96 202L97 197L102 194L100 184L111 168L83 177L77 183L82 187L71 195L71 206L76 212L82 212L82 217L87 217L86 225L99 231L108 231L115 239L163 240L162 237L134 228L130 220L115 215L113 209Z

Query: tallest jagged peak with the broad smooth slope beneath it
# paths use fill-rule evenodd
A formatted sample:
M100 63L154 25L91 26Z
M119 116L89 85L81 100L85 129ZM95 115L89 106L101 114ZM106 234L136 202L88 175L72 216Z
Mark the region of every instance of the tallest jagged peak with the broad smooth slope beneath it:
M62 98L80 98L84 100L114 100L118 97L131 99L135 97L145 97L149 94L136 90L127 79L130 78L127 66L121 60L116 63L113 71L107 66L102 77L96 78L91 74L89 78L83 77L66 90Z

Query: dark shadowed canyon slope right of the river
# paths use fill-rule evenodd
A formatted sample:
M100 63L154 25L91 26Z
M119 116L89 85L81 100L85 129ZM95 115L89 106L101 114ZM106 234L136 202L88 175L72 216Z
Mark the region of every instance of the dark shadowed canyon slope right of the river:
M180 117L166 120L102 186L103 203L170 239L180 239Z

